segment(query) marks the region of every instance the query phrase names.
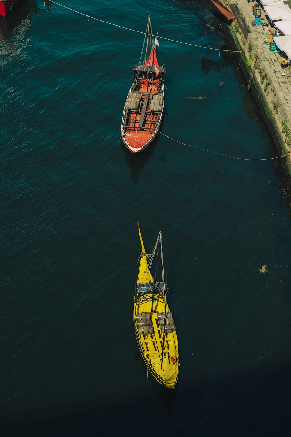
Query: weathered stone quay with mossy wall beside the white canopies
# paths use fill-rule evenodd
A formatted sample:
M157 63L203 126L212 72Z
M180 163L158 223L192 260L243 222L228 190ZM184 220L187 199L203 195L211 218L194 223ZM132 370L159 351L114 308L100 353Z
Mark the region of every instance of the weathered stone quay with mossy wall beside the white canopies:
M252 3L247 3L246 0L241 1L244 1L251 10ZM223 3L226 7L230 7L228 0L224 0ZM262 26L260 26L259 32L253 31L244 17L242 8L240 8L240 1L232 2L232 4L237 6L240 17L244 20L250 33L245 37L236 19L228 26L229 31L237 48L245 50L242 62L244 62L250 75L256 56L259 57L250 88L255 87L257 97L264 105L267 118L272 123L277 139L281 144L282 155L286 155L291 153L291 83L286 78L283 81L280 64L281 56L269 51L269 46L264 43L265 34ZM288 71L289 75L291 76L291 68ZM285 160L286 168L291 175L291 156L286 156L282 160Z

